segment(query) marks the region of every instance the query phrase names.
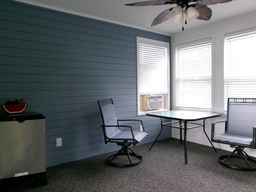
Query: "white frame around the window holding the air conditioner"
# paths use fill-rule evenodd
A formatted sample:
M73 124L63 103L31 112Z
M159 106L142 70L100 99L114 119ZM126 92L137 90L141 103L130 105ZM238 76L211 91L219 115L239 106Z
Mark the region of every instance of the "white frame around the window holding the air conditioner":
M140 93L140 53L139 53L139 44L140 42L148 42L149 44L156 44L156 45L163 45L163 47L166 47L167 50L167 93L161 95L164 95L163 97L163 105L164 108L158 109L158 110L144 110L144 95L145 93ZM165 111L170 110L170 43L169 42L163 42L158 40L153 40L149 38L142 38L142 37L136 37L136 47L137 47L137 113L139 115L145 115L147 112L156 112L156 111ZM150 94L150 93L148 93ZM154 93L154 95L158 95L157 93Z

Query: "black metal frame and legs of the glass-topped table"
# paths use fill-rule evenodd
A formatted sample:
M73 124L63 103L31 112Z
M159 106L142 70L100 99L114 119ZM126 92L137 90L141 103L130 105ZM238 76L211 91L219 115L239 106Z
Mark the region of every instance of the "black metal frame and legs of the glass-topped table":
M179 112L188 112L187 110L172 110L172 111L179 111ZM189 111L192 112L192 111ZM157 112L156 112L157 113ZM204 113L205 114L205 113ZM214 117L218 117L220 116L220 114L216 114L216 113L207 113L209 114L209 116L202 116L200 118L189 118L189 119L184 119L184 118L177 118L177 117L171 117L171 116L162 116L159 114L154 114L154 112L152 113L147 113L147 116L153 116L153 117L158 117L161 119L161 130L158 134L158 136L156 137L155 141L153 142L152 146L150 147L149 150L151 150L151 148L154 146L156 140L158 139L158 137L160 136L162 130L163 130L163 126L168 126L168 127L173 127L173 128L178 128L180 129L180 142L182 142L182 130L184 130L184 155L185 155L185 164L188 164L188 156L187 156L187 139L186 139L186 130L188 129L192 129L192 128L197 128L197 127L203 127L204 130L204 134L206 135L207 139L209 140L210 144L212 145L212 148L214 149L215 152L216 149L214 148L210 138L208 137L208 135L205 132L205 120L208 118L214 118ZM178 121L174 121L174 122L166 122L163 123L162 118L164 119L174 119L174 120L178 120ZM198 120L203 120L203 123L197 123L197 122L191 122L191 121L198 121ZM179 123L178 126L174 126L174 123ZM192 125L192 126L188 126Z

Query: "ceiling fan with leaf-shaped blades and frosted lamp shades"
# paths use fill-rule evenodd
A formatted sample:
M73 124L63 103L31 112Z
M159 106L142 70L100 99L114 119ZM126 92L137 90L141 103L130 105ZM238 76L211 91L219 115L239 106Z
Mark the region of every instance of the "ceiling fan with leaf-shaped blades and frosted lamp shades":
M232 0L155 0L126 4L127 6L150 6L150 5L170 5L177 4L160 13L152 22L151 26L158 25L170 18L175 23L183 23L183 12L188 20L210 20L212 10L207 5L226 3ZM185 20L186 24L186 20ZM184 28L182 27L182 30Z

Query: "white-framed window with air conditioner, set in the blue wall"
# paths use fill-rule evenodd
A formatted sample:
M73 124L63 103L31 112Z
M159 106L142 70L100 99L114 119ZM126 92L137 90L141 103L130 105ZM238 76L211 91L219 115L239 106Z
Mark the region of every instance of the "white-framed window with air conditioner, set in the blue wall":
M138 115L170 109L170 45L137 37Z

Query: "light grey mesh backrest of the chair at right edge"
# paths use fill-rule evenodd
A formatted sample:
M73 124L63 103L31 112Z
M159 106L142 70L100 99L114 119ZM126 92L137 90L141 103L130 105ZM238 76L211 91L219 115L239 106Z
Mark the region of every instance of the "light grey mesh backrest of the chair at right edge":
M253 136L256 99L228 98L226 132Z

